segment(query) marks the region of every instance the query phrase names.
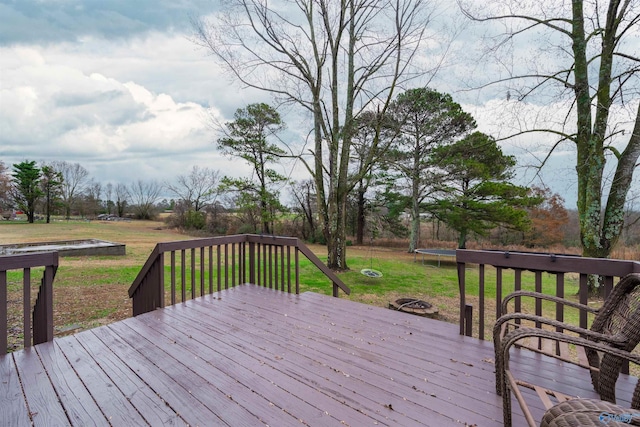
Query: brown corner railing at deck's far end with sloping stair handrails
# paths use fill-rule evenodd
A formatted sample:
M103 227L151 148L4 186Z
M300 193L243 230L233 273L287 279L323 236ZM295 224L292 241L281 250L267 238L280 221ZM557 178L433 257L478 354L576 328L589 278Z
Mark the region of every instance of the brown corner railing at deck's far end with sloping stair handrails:
M165 255L168 254L168 259ZM129 288L133 315L243 283L300 292L299 254L333 283L333 296L349 288L296 238L242 234L158 243ZM170 286L165 290L165 282Z

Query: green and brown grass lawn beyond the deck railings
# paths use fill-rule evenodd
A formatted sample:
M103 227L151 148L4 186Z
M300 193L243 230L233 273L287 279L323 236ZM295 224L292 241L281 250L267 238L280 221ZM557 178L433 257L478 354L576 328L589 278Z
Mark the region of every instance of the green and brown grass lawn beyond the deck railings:
M55 221L51 224L27 224L23 222L0 222L0 242L3 244L40 242L73 239L100 239L126 245L125 256L61 257L54 287L54 325L56 335L75 332L110 323L131 316L131 301L127 290L147 257L158 242L185 240L192 237L167 229L159 221L101 222L101 221ZM309 247L326 260L326 248L319 245ZM458 321L458 282L455 262L441 260L436 267L435 256L421 257L414 261L413 254L398 248L348 247L348 265L351 271L340 274L351 288L346 297L354 301L387 307L390 301L401 297L414 297L435 304L442 320ZM369 278L360 274L363 268L373 268L383 273L380 278ZM331 294L330 281L310 262L301 257L301 291ZM477 283L477 270L467 273L469 283ZM40 273L33 272L34 282ZM10 302L20 301L20 278L9 276ZM533 289L533 279L526 280L524 288ZM508 283L505 280L505 283ZM553 293L551 281L545 283L545 291ZM570 279L567 294L575 294L577 284ZM33 285L36 287L35 283ZM495 295L495 281L487 279L489 294ZM470 286L469 299L476 296L477 285ZM508 290L507 290L508 291ZM20 306L18 302L15 304ZM488 303L489 312L494 310ZM495 307L495 306L493 306ZM18 309L13 312L20 322ZM492 320L487 319L490 325ZM18 323L19 324L19 323Z

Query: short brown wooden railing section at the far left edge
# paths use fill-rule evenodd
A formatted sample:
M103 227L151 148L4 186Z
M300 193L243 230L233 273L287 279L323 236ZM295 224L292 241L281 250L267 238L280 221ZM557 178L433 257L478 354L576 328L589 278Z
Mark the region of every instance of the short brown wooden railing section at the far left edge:
M33 305L31 303L32 268L44 269ZM0 257L0 349L7 349L8 345L8 315L10 311L7 304L8 288L16 281L22 282L24 347L53 340L53 280L57 270L57 252ZM11 283L9 277L11 277ZM16 309L19 310L19 308Z

